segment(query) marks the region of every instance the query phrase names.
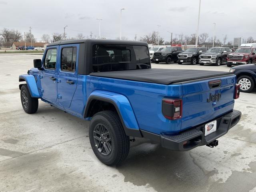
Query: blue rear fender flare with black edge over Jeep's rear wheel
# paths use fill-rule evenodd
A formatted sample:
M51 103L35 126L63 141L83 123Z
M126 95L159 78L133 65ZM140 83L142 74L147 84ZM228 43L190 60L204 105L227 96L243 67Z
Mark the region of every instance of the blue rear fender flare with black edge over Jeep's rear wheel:
M107 91L92 92L84 108L84 118L104 110L115 110L127 136L142 137L130 102L125 96Z

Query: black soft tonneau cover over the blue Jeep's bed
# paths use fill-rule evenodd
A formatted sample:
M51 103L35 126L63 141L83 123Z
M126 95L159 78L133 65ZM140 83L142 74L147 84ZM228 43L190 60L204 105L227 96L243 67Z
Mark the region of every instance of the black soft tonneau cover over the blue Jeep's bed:
M94 72L91 76L116 78L148 83L169 85L178 82L197 80L233 74L230 72L205 71L205 70L181 70L181 69L139 69L110 72Z

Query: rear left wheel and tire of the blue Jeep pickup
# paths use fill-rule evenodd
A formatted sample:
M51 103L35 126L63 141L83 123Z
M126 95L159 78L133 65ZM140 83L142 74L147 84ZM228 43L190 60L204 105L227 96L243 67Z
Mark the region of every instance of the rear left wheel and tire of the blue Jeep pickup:
M130 138L126 136L120 118L115 112L96 113L90 122L89 138L96 157L108 166L120 164L129 153Z

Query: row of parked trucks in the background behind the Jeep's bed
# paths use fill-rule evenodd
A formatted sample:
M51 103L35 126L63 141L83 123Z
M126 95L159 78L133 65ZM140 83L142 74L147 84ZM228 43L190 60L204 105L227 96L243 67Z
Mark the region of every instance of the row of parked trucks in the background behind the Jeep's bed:
M225 63L228 67L232 65L251 64L256 62L256 49L252 46L240 46L233 53L228 47L214 47L206 50L204 47L188 48L185 51L181 47L167 46L153 47L150 49L150 59L154 63L177 62L178 64L215 64L220 66Z

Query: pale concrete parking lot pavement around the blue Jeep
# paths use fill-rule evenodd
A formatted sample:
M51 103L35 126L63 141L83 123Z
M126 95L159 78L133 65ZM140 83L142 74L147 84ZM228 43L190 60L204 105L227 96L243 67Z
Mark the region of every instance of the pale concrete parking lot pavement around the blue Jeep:
M234 108L242 119L216 148L174 152L138 138L126 161L109 167L91 149L89 122L42 101L35 114L23 111L18 76L41 57L0 54L0 192L256 192L255 91L240 94ZM152 68L230 70L224 64Z

